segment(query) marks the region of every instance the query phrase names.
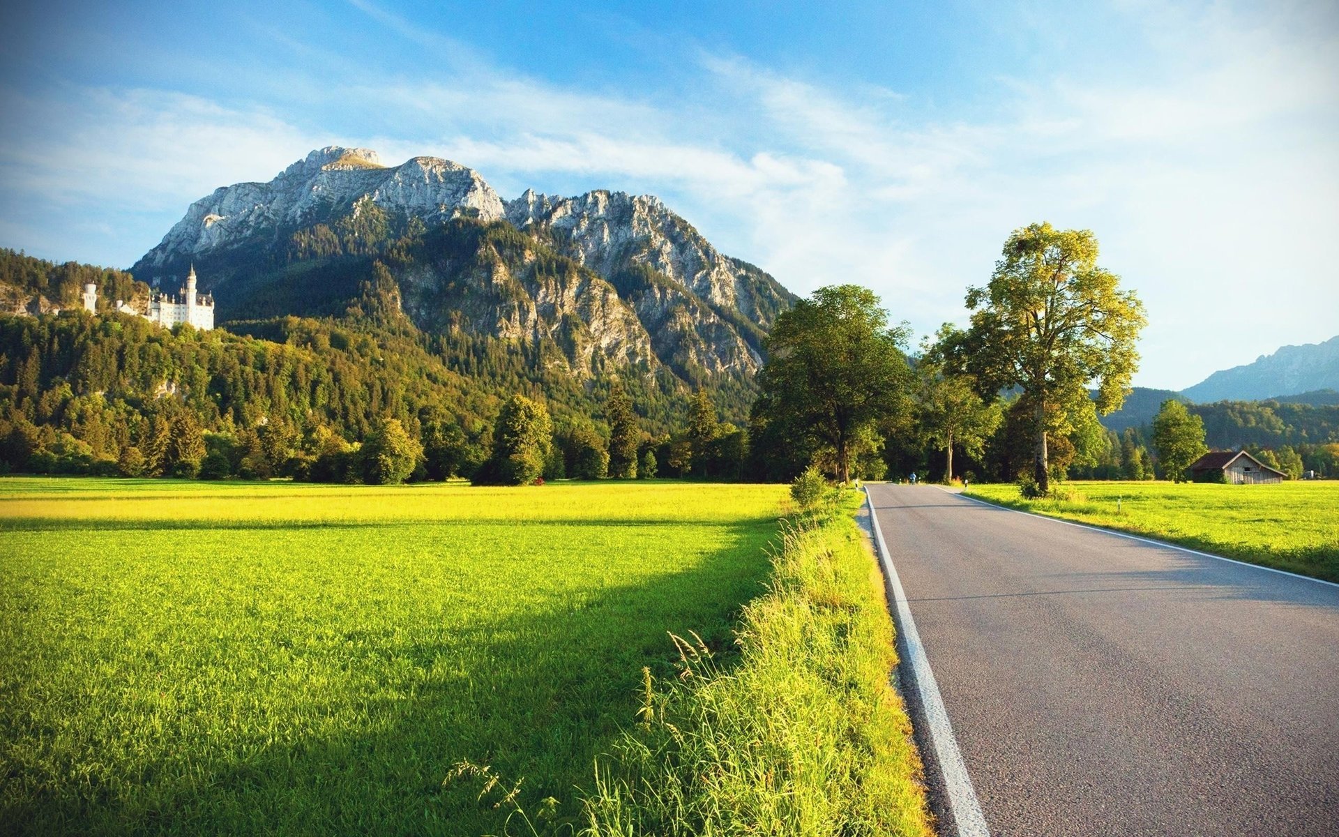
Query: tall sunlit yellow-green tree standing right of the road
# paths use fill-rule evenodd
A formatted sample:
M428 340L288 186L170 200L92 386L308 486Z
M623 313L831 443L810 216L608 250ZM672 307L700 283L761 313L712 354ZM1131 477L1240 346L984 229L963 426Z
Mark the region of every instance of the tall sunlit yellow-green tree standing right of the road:
M1097 410L1121 406L1138 366L1144 305L1097 264L1090 230L1014 230L984 288L968 288L971 327L955 346L983 395L1018 387L1032 416L1034 474L1050 490L1047 437L1069 433L1089 387Z

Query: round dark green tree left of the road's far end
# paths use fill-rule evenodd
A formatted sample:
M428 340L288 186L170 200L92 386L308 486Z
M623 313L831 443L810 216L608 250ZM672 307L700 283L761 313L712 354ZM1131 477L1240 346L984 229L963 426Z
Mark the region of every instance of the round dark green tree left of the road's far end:
M853 443L909 404L905 340L869 289L819 288L773 325L755 419L791 445L830 449L837 477L849 481Z

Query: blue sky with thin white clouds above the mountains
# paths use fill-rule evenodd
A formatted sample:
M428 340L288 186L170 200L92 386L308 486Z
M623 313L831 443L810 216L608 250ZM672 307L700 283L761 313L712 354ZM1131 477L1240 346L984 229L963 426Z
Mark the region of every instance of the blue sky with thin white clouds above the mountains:
M358 145L657 194L923 335L1014 228L1093 229L1149 311L1141 386L1339 333L1332 1L178 5L0 11L0 246L126 267Z

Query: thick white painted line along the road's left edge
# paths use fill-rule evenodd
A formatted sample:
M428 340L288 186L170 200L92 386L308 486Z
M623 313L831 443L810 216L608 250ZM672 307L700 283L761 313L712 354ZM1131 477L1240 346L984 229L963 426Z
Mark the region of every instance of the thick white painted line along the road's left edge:
M925 656L925 647L921 644L920 633L916 631L916 620L912 619L911 604L902 591L902 581L897 577L892 556L888 553L888 542L884 541L884 530L878 525L878 516L874 513L874 498L865 486L865 505L869 509L869 528L874 533L874 545L878 550L878 562L884 570L884 579L893 592L893 617L897 632L907 644L905 663L912 670L912 679L916 682L916 691L920 696L921 711L925 715L927 735L935 747L935 761L939 766L940 779L948 797L948 809L953 817L955 833L959 837L990 837L986 826L986 814L981 813L981 804L976 798L976 789L967 775L967 765L963 762L963 753L957 749L957 739L953 737L953 726L948 720L948 710L944 708L944 699L939 694L939 683L935 672L931 671L929 658Z

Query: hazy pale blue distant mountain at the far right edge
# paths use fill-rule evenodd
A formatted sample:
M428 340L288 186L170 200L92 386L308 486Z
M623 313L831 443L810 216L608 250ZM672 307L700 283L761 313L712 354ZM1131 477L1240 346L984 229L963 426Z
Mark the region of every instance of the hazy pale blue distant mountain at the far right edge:
M1339 388L1339 336L1324 343L1284 346L1255 363L1214 372L1181 390L1197 403L1216 400L1261 400L1312 390Z

